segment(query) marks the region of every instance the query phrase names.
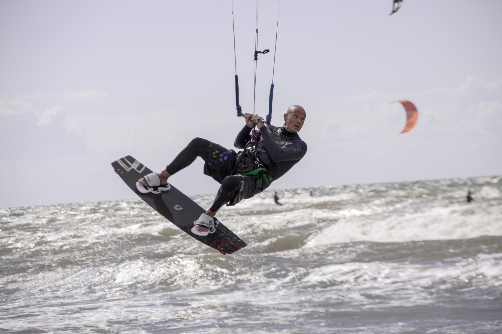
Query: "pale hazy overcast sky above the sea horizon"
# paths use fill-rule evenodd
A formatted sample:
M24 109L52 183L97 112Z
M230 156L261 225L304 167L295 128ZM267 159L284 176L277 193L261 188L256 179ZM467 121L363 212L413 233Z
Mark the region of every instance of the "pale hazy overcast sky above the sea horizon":
M243 111L256 2L234 0ZM272 124L307 111L305 158L270 189L502 174L502 2L281 2ZM135 198L110 163L160 171L194 137L232 148L232 2L0 1L0 207ZM277 1L259 6L268 112ZM419 110L400 134L406 113ZM170 180L216 193L203 161Z

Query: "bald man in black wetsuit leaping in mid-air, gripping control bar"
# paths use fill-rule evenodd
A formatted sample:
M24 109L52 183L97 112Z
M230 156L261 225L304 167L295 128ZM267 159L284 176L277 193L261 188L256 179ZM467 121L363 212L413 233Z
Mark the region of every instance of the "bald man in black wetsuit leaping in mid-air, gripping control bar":
M160 173L151 173L138 180L139 189L169 191L167 179L179 170L189 166L197 157L204 161L204 174L221 184L213 205L194 222L192 233L206 236L214 232L218 224L215 215L224 205L232 206L242 199L251 198L265 190L274 180L283 176L307 152L307 144L298 132L305 122L306 113L301 106L289 107L284 114L282 127L266 125L263 117L244 114L245 126L235 138L233 150L212 143L206 139L194 138L188 146ZM254 125L257 136L252 136Z

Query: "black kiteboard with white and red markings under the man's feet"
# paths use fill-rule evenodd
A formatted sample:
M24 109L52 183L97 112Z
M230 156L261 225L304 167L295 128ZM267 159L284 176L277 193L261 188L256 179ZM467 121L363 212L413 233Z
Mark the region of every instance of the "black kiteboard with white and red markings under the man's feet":
M223 255L231 254L247 246L242 239L226 228L221 222L216 227L216 231L207 236L199 236L190 232L190 229L194 226L193 222L206 210L176 189L172 184L169 191L162 191L160 194L143 194L139 192L136 188L136 182L146 174L152 173L152 171L132 156L128 155L127 157L120 158L117 161L113 161L111 165L115 169L115 173L141 199L192 238L219 250Z

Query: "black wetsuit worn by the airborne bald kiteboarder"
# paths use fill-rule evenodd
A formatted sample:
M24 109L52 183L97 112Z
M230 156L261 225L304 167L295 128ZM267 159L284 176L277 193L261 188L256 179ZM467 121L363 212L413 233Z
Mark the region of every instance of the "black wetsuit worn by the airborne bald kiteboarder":
M231 206L253 197L300 161L307 152L307 144L297 133L291 133L283 127L262 127L257 131L254 141L251 130L246 125L235 138L235 147L244 149L239 153L206 139L194 138L166 170L173 175L197 157L204 159L204 174L221 184L210 208L213 212L224 204ZM253 173L258 168L261 168L261 172L256 175L237 175Z

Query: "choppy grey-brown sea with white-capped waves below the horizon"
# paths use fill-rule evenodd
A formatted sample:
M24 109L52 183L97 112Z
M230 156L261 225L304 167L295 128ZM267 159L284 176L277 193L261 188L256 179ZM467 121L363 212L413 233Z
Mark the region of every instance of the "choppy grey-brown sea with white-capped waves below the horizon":
M139 199L0 209L0 331L502 332L502 178L272 194L232 255Z

